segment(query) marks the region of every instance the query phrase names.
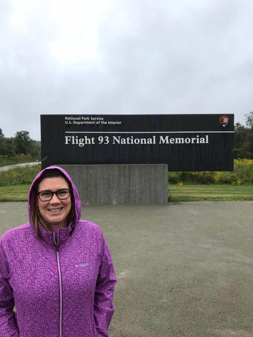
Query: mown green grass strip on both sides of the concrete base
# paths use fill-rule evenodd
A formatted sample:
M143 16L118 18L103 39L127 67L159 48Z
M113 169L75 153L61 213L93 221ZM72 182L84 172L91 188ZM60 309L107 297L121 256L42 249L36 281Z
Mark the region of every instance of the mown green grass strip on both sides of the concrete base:
M0 186L0 201L27 201L30 185ZM253 200L253 185L169 185L169 201Z

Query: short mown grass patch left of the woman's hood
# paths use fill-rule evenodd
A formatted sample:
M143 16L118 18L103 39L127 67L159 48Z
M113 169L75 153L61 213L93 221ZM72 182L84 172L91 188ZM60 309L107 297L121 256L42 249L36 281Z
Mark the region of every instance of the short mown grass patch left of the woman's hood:
M30 186L0 186L0 201L27 201Z

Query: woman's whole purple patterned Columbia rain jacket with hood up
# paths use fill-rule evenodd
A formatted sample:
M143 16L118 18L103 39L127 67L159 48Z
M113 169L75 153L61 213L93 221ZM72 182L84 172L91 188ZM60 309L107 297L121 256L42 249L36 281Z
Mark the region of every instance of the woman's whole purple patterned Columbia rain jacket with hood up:
M71 182L76 222L53 232L39 224L43 243L31 224L29 196L50 168ZM30 223L0 240L0 337L108 336L116 283L110 251L101 229L80 220L80 198L69 175L57 166L45 170L29 191Z

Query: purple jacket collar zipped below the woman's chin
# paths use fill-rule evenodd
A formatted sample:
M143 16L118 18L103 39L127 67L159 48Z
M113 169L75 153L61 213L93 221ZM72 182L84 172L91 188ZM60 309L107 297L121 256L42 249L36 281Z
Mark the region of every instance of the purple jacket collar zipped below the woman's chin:
M59 246L64 244L67 239L71 236L73 231L73 225L68 225L67 227L62 228L54 228L53 232L47 232L44 227L41 226L40 223L38 223L39 231L41 233L41 236L43 237L44 241L50 245L55 247L55 242L58 243L58 233L59 233ZM54 242L55 238L55 242Z

